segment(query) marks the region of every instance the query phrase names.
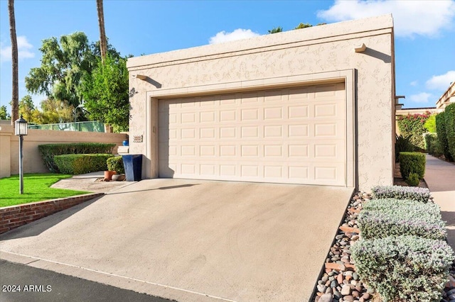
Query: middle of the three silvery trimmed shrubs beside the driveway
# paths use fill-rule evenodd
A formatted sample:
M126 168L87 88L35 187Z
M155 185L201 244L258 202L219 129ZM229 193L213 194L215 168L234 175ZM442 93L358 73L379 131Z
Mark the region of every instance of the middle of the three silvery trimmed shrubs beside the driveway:
M435 240L445 240L447 237L446 225L441 220L437 204L396 199L374 199L368 203L358 215L360 233L364 239L400 235Z

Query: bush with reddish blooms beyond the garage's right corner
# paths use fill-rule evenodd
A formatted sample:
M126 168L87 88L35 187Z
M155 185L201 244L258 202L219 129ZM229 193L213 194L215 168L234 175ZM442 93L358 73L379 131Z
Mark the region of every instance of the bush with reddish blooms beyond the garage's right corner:
M424 124L431 116L429 111L423 114L408 114L407 116L398 116L398 128L403 137L410 137L410 141L414 146L414 150L424 150L423 134L427 132Z

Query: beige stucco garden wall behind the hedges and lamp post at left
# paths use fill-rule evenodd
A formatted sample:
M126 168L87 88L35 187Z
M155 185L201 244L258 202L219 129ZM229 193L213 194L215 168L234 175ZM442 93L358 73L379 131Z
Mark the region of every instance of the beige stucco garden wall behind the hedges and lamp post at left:
M65 142L111 142L122 145L127 139L126 134L96 133L77 131L56 131L28 129L28 135L23 137L23 172L45 173L45 167L38 151L38 145L62 144ZM117 147L114 153L117 153ZM1 125L0 130L0 178L18 174L19 169L19 138L14 135L11 125Z

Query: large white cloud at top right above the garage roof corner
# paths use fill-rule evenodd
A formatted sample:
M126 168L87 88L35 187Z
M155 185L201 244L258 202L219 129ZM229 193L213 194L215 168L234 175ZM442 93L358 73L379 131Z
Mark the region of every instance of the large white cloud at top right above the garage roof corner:
M346 21L392 13L397 36L437 35L442 28L453 28L455 1L336 0L318 17L326 21Z

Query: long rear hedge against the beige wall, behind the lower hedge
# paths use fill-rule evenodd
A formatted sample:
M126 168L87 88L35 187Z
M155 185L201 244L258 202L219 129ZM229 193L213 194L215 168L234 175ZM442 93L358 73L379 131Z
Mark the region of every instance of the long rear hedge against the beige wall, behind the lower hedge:
M38 145L41 158L50 172L59 172L54 162L55 155L63 154L100 154L112 153L115 144L100 142L80 142L72 144L46 144Z

